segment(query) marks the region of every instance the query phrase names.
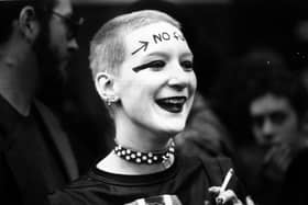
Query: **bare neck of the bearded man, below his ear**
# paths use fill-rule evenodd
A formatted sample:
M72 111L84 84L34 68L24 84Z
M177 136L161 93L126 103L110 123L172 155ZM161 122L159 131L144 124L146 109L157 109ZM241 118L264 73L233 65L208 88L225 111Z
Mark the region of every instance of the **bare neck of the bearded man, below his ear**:
M37 82L34 54L16 45L0 50L0 94L20 114L29 115Z

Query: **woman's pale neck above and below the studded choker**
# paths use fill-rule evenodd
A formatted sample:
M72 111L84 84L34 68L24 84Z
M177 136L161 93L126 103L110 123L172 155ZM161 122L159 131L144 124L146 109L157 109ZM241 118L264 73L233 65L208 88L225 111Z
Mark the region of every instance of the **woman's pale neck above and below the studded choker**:
M118 116L118 117L117 117ZM172 135L155 133L146 127L134 124L125 116L116 114L116 141L117 144L135 151L150 152L165 150L169 145ZM128 161L111 151L97 167L100 170L128 175L148 174L168 169L174 163L174 155L162 163L134 163Z

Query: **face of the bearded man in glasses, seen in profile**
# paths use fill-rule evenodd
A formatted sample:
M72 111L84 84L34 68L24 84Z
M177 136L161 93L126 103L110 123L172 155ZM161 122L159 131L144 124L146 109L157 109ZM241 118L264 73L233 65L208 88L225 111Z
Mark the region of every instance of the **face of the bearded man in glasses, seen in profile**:
M70 0L56 0L50 20L42 25L36 53L43 84L58 87L67 77L67 64L78 49Z

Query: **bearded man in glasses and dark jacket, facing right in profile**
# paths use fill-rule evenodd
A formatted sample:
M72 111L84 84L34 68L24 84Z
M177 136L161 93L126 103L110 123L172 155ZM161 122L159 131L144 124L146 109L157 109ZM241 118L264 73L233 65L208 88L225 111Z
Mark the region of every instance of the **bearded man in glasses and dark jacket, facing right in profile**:
M61 92L81 23L69 0L0 0L0 204L44 204L78 176L68 138L36 99Z

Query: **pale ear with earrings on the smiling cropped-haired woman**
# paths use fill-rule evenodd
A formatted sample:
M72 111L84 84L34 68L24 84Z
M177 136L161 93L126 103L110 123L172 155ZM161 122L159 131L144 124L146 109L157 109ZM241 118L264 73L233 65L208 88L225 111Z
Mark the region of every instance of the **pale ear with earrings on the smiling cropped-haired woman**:
M107 72L98 72L95 82L96 89L103 101L112 100L112 102L116 102L119 100L114 93L114 83L110 75Z

